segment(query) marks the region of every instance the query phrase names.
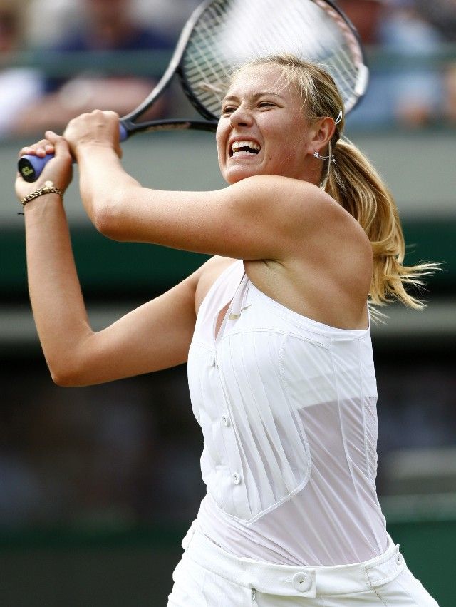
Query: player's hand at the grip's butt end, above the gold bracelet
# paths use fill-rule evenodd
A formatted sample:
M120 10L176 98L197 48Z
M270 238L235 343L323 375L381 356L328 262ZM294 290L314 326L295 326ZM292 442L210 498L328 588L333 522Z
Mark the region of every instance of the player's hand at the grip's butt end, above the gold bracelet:
M36 155L39 158L43 158L46 154L54 154L54 158L46 164L38 181L28 183L24 181L20 173L17 173L16 195L19 200L41 188L46 181L52 181L54 187L60 188L63 192L71 183L73 159L68 143L53 131L46 131L45 136L45 139L41 139L31 146L26 146L19 152L19 158L28 154Z

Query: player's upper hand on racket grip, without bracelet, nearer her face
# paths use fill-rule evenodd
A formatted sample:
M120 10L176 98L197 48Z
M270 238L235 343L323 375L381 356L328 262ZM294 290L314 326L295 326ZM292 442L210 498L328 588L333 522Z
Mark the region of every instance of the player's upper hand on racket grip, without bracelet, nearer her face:
M63 133L68 141L73 157L85 146L105 146L113 148L119 158L122 150L119 145L119 116L115 112L94 110L73 118Z

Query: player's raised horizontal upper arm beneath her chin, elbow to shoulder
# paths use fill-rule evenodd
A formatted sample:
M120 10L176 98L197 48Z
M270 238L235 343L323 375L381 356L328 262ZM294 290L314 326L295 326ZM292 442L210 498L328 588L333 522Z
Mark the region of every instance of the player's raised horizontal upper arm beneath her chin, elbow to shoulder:
M257 175L222 190L167 192L130 185L106 205L98 228L138 240L244 260L282 259L314 230L328 196L304 181ZM319 213L323 213L320 207Z

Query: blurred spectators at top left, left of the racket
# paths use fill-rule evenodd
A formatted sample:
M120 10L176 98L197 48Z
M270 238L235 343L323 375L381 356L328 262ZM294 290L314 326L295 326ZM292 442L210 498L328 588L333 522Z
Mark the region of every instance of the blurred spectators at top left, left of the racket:
M120 66L117 59L135 51L170 53L196 5L195 0L0 0L0 136L60 131L73 116L94 108L121 116L131 111L150 93L155 70L135 76L135 65ZM24 52L35 68L23 61L14 66ZM72 58L77 63L84 53L88 62L75 70ZM165 103L157 103L148 117L160 117Z

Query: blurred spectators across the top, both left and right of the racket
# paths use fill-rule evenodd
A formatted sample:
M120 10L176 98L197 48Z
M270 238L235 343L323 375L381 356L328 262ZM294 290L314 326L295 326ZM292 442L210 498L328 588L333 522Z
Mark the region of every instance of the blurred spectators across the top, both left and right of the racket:
M132 76L125 61L119 61L113 72L115 58L130 51L171 53L197 4L198 0L0 0L0 137L28 136L46 128L60 131L73 116L93 108L128 113L150 92L154 78ZM454 124L456 53L451 49L456 44L456 0L337 4L358 29L371 67L368 92L348 118L348 126ZM61 58L53 73L46 72L49 63L43 62L43 68L39 62L51 51ZM81 56L81 51L96 52L96 61L81 71L73 66L67 73L71 53ZM27 52L38 57L35 67L16 61ZM442 56L447 61L441 61ZM166 114L167 103L169 98L155 106L150 118Z

